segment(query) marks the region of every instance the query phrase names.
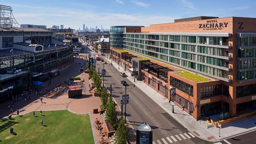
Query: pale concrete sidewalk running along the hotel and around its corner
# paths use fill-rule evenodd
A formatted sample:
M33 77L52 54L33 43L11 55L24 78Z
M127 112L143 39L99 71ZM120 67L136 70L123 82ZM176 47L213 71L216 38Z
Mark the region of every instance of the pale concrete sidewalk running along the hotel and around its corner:
M106 59L109 63L111 60ZM113 67L118 70L118 64L114 61L112 62ZM124 72L124 68L119 67L120 72ZM256 117L238 121L235 123L227 124L222 126L221 129L216 127L207 128L207 122L196 121L196 119L190 116L187 112L182 111L182 109L171 102L169 105L169 100L165 98L160 93L156 92L150 86L142 81L135 81L131 73L126 72L127 79L140 88L145 94L148 95L152 100L154 100L161 108L163 108L169 115L176 119L180 124L182 124L188 131L194 133L200 139L208 141L220 141L239 134L256 130ZM174 105L174 113L172 113L172 105ZM210 124L210 123L208 123ZM220 132L220 136L219 136Z

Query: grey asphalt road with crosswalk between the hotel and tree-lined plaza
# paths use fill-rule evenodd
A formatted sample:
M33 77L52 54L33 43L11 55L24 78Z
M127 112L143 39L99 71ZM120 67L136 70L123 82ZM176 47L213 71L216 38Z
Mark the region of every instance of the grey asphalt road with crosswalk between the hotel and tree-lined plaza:
M91 53L92 56L96 54L92 50ZM102 57L105 58L107 56ZM96 70L98 70L98 68L100 68L101 72L101 69L103 69L103 62L97 61ZM128 84L132 83L127 78L120 76L118 70L112 65L109 66L108 64L105 64L104 68L106 69L104 84L108 88L110 87L110 84L112 84L112 97L116 100L121 108L120 100L122 95L125 93L125 87L120 84L120 81L125 80ZM133 129L138 129L143 122L148 123L153 131L153 141L155 143L170 143L167 137L169 137L169 139L175 143L212 143L197 137L193 138L191 135L189 135L187 129L173 119L139 88L133 88L133 85L130 85L126 89L126 94L130 95L130 103L126 105L126 117L128 121L132 125ZM186 137L184 133L188 134L188 136L191 138L189 139ZM180 134L185 136L186 139L184 139ZM177 135L181 140L179 140L179 138L175 135ZM172 139L171 136L177 141Z

